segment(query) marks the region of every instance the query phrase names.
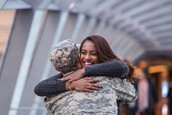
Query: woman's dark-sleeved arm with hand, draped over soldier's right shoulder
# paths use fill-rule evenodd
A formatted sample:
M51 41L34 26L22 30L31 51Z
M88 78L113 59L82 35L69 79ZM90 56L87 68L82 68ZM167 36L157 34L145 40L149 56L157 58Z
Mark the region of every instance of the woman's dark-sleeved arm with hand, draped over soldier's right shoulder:
M80 69L73 74L63 78L70 82L81 79L84 76L107 76L111 78L125 79L129 73L129 67L126 63L119 60L107 61L100 64L94 64Z

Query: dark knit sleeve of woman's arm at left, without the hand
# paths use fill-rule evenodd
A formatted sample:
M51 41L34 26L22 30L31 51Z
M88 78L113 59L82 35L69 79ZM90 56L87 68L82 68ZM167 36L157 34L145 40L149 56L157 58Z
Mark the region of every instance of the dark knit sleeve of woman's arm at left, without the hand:
M39 82L34 88L35 94L38 96L51 96L66 92L66 82L59 80L61 77L62 74L60 73Z

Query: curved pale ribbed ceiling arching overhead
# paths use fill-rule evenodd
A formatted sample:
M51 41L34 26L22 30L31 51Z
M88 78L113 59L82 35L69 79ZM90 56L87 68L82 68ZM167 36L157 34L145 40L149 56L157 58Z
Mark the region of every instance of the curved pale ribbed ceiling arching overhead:
M105 20L132 36L147 52L172 57L171 0L4 0L1 8L11 5L67 10Z

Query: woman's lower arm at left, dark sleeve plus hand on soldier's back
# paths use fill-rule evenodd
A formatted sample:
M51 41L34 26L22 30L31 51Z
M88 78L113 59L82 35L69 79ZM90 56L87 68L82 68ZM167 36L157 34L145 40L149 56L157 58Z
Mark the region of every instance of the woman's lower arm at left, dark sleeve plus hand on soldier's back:
M82 92L93 92L94 90L98 90L99 85L97 84L99 80L93 79L91 77L81 78L79 80L73 81L71 83L72 89L76 89ZM89 84L92 84L89 86ZM68 89L69 82L65 82L60 80L59 74L50 77L46 80L39 82L35 88L34 92L38 96L52 96L57 95L63 92L66 92Z

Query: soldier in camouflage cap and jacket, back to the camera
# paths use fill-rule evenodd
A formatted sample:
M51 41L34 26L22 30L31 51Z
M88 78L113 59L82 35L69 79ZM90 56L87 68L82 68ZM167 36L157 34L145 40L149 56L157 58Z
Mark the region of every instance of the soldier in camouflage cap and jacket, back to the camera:
M78 49L71 40L65 40L50 53L50 60L56 70L64 76L78 69ZM75 58L75 59L74 59ZM45 106L50 115L117 115L117 100L131 102L137 97L134 86L126 79L99 76L99 86L102 88L93 93L67 91L58 95L46 97Z

